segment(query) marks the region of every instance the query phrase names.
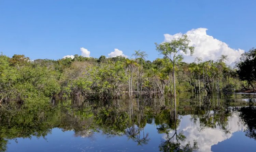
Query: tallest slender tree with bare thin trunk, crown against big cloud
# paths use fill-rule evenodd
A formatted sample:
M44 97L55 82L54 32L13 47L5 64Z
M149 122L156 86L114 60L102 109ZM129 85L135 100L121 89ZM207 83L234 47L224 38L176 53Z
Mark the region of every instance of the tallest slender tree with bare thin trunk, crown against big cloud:
M183 59L181 54L177 54L180 51L187 54L190 51L190 55L194 53L194 47L189 46L190 40L187 35L183 35L181 38L173 39L170 42L162 42L161 44L156 44L156 50L164 57L168 58L173 64L173 91L174 91L174 108L176 109L176 91L175 91L175 64ZM176 115L176 114L175 114Z

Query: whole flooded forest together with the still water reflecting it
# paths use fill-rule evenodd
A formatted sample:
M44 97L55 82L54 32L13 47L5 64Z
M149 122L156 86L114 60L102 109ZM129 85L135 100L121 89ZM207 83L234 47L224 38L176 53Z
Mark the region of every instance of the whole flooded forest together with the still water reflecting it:
M256 49L231 67L184 62L188 44L156 43L154 61L1 54L0 151L252 151Z

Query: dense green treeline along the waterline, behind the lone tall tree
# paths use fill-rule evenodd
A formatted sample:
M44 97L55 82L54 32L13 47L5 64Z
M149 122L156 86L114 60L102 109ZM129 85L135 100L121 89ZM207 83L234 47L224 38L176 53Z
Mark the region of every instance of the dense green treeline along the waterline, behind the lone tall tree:
M224 55L217 61L202 62L201 58L196 58L193 63L185 63L180 60L173 68L168 58L151 62L146 60L147 54L140 51L134 53L134 59L75 55L73 59L31 61L24 55L10 58L1 54L0 103L35 99L40 102L46 97L77 95L88 98L116 98L120 95L162 98L173 95L173 74L178 92L211 94L249 90L255 88L256 62L252 54L256 54L256 49L242 55L237 69L226 65L228 57Z

